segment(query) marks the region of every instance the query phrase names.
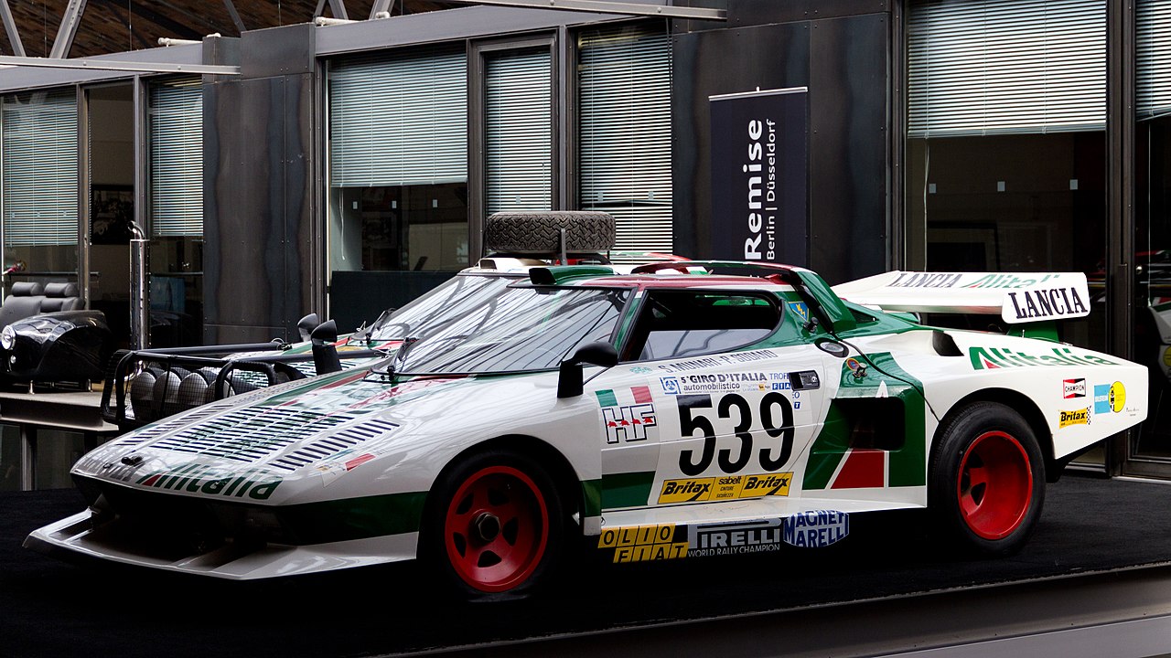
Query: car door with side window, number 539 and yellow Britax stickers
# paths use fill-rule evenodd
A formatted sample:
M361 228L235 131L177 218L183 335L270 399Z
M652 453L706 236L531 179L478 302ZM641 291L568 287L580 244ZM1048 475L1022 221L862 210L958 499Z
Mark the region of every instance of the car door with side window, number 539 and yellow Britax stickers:
M767 293L651 290L624 348L659 440L646 505L787 496L826 405L828 356L774 344L786 307Z

